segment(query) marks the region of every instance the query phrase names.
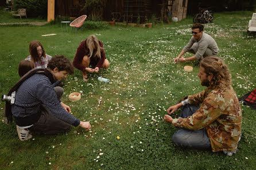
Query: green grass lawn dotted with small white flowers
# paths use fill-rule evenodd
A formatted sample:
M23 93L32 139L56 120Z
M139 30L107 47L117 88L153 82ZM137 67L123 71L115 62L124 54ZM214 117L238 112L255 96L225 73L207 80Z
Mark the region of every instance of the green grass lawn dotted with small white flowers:
M256 88L256 37L246 33L252 14L216 13L214 23L204 30L215 38L238 97ZM197 77L199 68L191 73L183 70L196 62L173 63L192 36L191 26L192 17L152 29L86 27L77 34L70 28L61 32L60 24L0 26L0 94L7 94L18 81L18 64L29 56L29 42L34 39L47 54L72 60L80 41L95 34L110 61L107 70L89 74L87 83L79 70L64 80L62 101L74 116L90 121L91 131L73 127L67 134L34 135L21 142L15 124L3 122L4 102L0 102L0 169L255 169L255 110L241 104L243 136L232 157L177 147L172 142L177 128L162 120L169 106L204 89ZM52 33L57 35L41 36ZM110 84L99 82L98 76L110 79ZM71 92L80 92L81 100L69 101Z

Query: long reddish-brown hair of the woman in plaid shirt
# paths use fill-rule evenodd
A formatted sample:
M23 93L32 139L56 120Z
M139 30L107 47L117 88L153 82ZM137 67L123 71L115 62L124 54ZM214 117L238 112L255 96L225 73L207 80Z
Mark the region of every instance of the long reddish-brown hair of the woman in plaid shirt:
M41 42L37 41L37 40L33 40L29 44L29 53L31 55L31 58L32 58L33 62L37 62L37 61L40 60L40 57L38 56L38 53L37 53L38 46L41 46L41 48L42 48L42 56L44 58L46 58L44 47L42 46Z

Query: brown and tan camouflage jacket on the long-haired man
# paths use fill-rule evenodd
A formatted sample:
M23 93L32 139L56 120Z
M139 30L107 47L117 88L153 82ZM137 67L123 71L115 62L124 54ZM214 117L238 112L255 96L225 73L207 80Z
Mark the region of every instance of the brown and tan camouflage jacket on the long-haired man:
M187 118L175 118L174 126L198 130L206 128L212 152L234 151L242 130L242 109L234 89L210 89L188 96L189 104L199 105Z

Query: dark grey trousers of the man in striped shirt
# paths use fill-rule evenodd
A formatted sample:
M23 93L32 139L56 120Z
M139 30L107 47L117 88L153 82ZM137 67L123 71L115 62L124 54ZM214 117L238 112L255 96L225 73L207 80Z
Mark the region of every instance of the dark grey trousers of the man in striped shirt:
M54 90L57 94L58 100L60 100L64 92L63 88L56 86ZM39 120L29 128L29 131L34 134L56 134L68 132L70 129L71 125L54 116L52 112L42 104L41 116Z

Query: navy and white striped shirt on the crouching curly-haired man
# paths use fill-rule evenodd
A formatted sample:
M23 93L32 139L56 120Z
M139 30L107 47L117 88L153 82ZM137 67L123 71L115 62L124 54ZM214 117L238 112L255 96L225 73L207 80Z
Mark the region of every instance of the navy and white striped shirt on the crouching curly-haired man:
M73 126L80 124L80 120L72 116L60 105L51 81L43 74L34 74L21 84L16 91L14 104L11 105L11 112L14 117L21 118L38 114L40 105L44 104L60 120ZM19 106L25 107L26 112L24 108Z

